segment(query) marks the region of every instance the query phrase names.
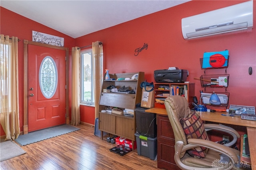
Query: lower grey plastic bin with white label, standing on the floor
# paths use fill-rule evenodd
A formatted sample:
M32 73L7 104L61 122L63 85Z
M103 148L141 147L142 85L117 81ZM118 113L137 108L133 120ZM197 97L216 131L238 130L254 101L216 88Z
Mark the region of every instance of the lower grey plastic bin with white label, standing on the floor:
M141 135L138 133L135 133L134 135L136 136L138 155L155 160L157 154L157 137L140 137Z

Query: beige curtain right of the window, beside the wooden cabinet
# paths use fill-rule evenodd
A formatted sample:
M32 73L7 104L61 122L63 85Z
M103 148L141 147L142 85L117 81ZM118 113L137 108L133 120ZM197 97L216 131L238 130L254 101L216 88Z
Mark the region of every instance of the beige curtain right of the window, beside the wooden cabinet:
M102 42L92 43L92 64L94 66L94 99L95 99L95 119L99 117L99 100L103 80L103 45Z

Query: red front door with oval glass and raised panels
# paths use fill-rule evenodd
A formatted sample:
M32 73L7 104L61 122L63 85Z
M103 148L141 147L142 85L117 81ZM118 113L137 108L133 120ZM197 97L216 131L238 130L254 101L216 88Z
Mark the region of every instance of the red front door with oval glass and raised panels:
M65 54L28 45L28 132L65 123Z

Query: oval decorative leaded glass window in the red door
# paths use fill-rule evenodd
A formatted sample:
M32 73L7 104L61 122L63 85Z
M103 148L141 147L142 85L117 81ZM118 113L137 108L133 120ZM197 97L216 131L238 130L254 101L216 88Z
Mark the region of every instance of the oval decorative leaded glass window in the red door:
M39 85L42 94L50 99L56 92L58 84L58 71L54 59L44 57L39 69Z

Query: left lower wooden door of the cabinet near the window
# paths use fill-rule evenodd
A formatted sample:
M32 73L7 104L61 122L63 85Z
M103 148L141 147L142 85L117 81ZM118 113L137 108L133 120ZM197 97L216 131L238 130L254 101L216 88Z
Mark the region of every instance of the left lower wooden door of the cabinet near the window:
M111 134L115 134L116 133L116 116L100 112L99 130L102 130L104 132L108 132Z

